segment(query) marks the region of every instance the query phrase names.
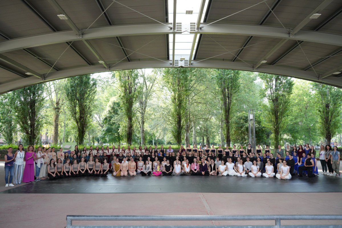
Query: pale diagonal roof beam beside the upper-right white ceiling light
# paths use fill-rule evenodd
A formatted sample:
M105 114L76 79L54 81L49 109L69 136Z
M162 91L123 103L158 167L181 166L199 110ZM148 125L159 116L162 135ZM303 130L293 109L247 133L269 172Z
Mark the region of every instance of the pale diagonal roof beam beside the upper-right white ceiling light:
M290 37L294 37L297 32L299 32L307 23L310 22L311 16L315 13L320 12L324 8L326 8L333 0L324 0L321 4L319 4L310 14L308 14L294 29L290 30ZM286 39L282 39L279 43L274 46L271 51L269 51L263 58L261 58L257 63L255 63L255 69L261 65L262 61L267 60L271 57L282 45L287 42Z

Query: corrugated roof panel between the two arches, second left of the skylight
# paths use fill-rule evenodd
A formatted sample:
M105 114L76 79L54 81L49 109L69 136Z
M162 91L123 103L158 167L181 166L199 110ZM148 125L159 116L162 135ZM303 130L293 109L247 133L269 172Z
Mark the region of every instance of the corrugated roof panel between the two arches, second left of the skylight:
M103 42L103 41L105 41L105 42ZM94 39L94 40L90 40L90 43L96 49L98 54L100 54L101 57L104 59L104 61L107 63L115 63L115 62L125 58L121 48L118 47L119 44L116 41L115 37ZM114 46L111 44L114 44L117 46ZM98 60L96 60L96 61L98 61ZM125 58L122 61L125 62L127 60Z

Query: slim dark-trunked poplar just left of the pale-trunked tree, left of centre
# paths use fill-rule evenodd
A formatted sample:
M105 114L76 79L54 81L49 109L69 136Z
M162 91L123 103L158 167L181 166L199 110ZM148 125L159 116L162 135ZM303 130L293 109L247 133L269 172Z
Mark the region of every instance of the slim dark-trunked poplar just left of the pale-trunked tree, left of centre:
M133 105L137 98L139 73L137 70L122 70L115 74L118 79L120 91L120 104L127 117L127 143L132 145L133 136Z

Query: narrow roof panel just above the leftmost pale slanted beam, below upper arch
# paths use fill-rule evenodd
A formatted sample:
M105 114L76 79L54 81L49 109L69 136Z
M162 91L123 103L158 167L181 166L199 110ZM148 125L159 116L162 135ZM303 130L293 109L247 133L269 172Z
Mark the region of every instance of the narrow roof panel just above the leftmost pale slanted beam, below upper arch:
M3 55L7 56L8 58L19 62L21 65L24 65L25 67L34 70L40 74L44 74L47 71L50 70L50 66L41 62L39 59L36 57L28 54L27 52L23 50L17 50L17 51L12 51L12 52L6 52L2 53ZM40 56L41 57L41 56ZM52 62L50 60L47 60L48 62ZM53 63L52 63L53 64ZM56 71L55 69L52 69L51 72Z

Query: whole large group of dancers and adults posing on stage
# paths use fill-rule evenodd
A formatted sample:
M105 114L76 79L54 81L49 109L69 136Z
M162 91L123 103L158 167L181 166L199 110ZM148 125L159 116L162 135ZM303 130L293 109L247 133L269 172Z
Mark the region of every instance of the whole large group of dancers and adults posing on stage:
M246 150L240 146L232 150L228 147L211 148L206 145L202 149L197 145L184 148L181 146L179 152L174 152L171 146L164 149L163 145L158 149L152 146L147 148L141 146L133 149L128 146L109 149L98 146L89 150L86 147L79 150L75 146L74 151L67 153L60 148L56 153L55 148L28 146L24 152L22 144L18 146L18 151L12 153L12 148L8 148L5 155L5 180L6 186L21 182L40 181L42 179L55 180L63 177L79 176L107 176L111 172L113 176L160 176L160 175L219 175L219 176L251 176L251 177L274 177L289 180L292 175L303 174L308 177L318 175L316 151L313 146L305 144L293 146L289 145L284 150L281 146L275 151L276 156L266 146L264 152L260 145L255 149L248 144ZM25 158L25 168L24 168ZM338 177L340 152L337 146L331 148L329 145L321 145L319 149L319 160L325 175ZM36 171L34 171L36 169ZM329 170L329 173L327 172ZM333 174L335 172L336 174ZM13 175L14 173L14 175ZM10 180L8 176L10 174Z

